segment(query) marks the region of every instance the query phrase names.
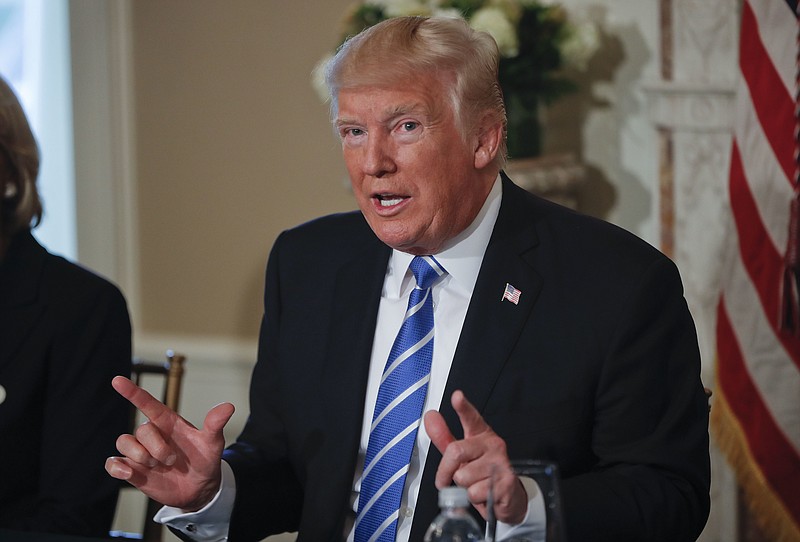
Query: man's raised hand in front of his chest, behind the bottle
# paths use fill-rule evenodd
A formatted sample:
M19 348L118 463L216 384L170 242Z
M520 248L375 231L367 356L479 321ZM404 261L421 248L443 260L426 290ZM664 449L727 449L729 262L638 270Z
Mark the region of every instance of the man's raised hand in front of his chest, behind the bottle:
M439 412L425 413L425 430L442 453L436 471L436 487L455 482L467 488L469 500L486 519L486 499L494 471L494 514L504 523L517 524L525 519L528 497L511 468L506 443L486 423L478 410L461 391L453 392L450 402L464 429L464 438L456 440Z

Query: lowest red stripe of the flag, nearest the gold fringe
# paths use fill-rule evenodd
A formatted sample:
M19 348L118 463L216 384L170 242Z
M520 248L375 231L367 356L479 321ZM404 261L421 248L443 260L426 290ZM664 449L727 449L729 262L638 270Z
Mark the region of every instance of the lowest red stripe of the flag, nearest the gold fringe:
M747 378L748 369L727 319L724 300L717 315L717 329L720 357L728 360L726 371L719 375L720 384L726 396L731 398L731 409L747 428L745 435L751 454L787 508L800 510L800 491L795 485L800 457L764 408L759 391Z

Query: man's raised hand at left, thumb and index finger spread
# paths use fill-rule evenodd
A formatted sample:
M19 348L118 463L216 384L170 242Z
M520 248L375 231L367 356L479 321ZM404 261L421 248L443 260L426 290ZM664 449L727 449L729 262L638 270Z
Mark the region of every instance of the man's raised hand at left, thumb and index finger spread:
M111 384L148 421L135 435L117 439L122 457L108 458L106 471L162 504L185 511L208 504L220 487L225 447L222 429L233 416L233 405L215 406L206 415L203 428L197 429L127 378L115 377Z

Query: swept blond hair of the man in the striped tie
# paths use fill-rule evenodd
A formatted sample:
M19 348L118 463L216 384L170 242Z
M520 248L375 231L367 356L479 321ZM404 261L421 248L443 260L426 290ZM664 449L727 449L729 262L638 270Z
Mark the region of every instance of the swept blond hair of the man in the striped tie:
M440 77L451 90L456 122L466 138L489 116L503 125L495 161L506 160L506 110L497 80L499 51L486 32L449 17L395 17L345 41L325 70L331 116L342 89L402 86L420 73Z

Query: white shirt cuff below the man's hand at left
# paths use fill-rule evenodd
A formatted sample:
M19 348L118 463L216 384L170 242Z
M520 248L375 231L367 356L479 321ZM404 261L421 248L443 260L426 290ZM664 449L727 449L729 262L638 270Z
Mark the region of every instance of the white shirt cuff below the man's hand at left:
M184 512L180 508L164 506L153 520L181 531L198 542L228 540L233 504L236 500L236 478L233 469L222 461L222 483L211 502L197 512Z

